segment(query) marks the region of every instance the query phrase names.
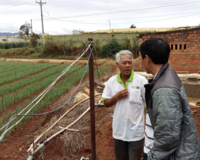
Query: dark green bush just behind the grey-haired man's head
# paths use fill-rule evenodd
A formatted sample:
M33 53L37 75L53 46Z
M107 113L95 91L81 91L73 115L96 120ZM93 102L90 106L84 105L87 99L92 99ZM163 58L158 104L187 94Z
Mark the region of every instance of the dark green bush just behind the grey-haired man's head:
M102 58L113 58L115 53L122 50L123 46L115 39L113 38L110 42L103 45L101 48L101 56Z

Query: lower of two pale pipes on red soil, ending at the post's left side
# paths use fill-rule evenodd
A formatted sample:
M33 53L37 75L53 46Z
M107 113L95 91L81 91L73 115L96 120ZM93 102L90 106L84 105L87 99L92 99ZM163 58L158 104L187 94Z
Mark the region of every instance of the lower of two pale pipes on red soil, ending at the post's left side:
M37 153L40 149L42 149L44 147L44 145L46 145L52 138L56 137L58 134L64 132L66 129L68 129L69 127L71 127L72 125L74 125L76 122L78 122L88 111L90 110L90 107L88 107L85 112L83 112L74 122L72 122L70 125L68 125L67 127L65 127L64 129L61 129L60 131L56 132L55 134L53 134L51 137L49 137L46 141L44 141L44 143L40 144L37 149L35 150L35 152L33 154L30 154L27 160L32 160L33 159L33 155L35 153Z

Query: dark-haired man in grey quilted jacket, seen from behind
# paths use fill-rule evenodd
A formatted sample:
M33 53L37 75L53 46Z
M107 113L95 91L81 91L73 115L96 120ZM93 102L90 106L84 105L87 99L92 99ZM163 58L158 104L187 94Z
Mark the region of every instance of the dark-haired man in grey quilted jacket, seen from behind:
M169 68L169 45L161 38L150 38L142 43L140 53L143 68L154 76L145 85L154 130L148 160L199 160L199 140L187 95Z

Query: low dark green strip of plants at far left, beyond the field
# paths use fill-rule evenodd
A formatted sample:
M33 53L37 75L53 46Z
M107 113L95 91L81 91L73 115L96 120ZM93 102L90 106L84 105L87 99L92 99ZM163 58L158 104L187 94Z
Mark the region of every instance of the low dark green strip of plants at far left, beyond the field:
M27 47L29 42L6 42L0 43L0 49L10 49L10 48L23 48Z

